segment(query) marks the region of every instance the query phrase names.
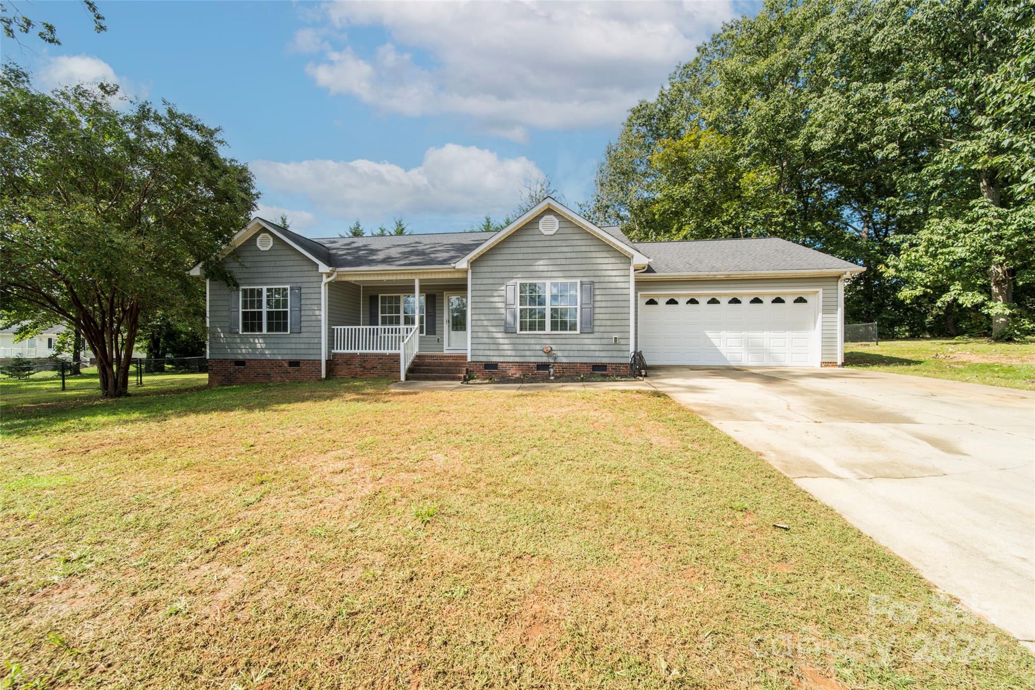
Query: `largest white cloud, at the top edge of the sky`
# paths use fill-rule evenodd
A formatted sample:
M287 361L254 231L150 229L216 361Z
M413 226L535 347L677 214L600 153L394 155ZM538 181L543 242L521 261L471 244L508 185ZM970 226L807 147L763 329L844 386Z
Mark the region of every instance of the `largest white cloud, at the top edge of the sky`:
M522 141L528 127L620 122L732 16L730 0L327 3L325 28L379 27L391 41L372 55L325 43L306 71L330 93L409 116L468 115Z

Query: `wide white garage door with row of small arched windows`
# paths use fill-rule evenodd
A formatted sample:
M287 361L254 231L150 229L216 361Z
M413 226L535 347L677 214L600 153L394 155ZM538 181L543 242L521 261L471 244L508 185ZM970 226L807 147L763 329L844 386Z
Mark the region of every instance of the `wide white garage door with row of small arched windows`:
M819 366L815 292L642 295L647 364Z

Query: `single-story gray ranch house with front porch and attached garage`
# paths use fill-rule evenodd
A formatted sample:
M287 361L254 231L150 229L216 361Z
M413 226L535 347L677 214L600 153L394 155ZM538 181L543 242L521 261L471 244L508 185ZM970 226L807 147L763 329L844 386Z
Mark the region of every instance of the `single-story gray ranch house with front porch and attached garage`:
M632 242L546 199L495 233L308 239L256 218L206 278L213 385L841 363L864 269L776 238ZM191 274L205 278L201 266Z

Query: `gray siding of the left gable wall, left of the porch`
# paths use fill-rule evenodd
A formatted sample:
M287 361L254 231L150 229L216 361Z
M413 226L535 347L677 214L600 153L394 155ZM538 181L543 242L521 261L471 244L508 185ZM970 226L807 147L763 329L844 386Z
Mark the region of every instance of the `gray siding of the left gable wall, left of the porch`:
M260 251L249 239L237 248L240 263L229 258L226 267L241 287L299 286L300 333L231 333L230 289L209 284L209 357L212 359L320 359L320 281L317 265L279 238Z

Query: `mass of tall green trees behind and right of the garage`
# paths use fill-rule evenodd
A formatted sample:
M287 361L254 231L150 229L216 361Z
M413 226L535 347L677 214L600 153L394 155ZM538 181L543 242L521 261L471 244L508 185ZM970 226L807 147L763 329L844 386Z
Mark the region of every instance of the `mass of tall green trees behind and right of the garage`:
M904 335L1026 328L1033 12L767 2L631 110L584 210L638 240L776 236L863 263L849 319Z

